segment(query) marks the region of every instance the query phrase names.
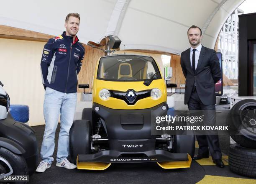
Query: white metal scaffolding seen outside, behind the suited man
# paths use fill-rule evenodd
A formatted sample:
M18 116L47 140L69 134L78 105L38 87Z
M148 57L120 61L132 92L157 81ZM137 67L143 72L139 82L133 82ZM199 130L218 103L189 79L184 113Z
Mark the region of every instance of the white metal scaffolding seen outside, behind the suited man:
M238 15L236 9L226 20L220 31L218 51L222 53L223 73L228 79L238 79Z

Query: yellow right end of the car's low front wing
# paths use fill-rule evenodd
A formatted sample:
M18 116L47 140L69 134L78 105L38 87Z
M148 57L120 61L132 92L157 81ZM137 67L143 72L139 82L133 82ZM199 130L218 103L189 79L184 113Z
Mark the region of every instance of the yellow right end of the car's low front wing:
M179 168L188 168L190 167L192 158L187 154L188 161L166 161L166 162L157 162L157 164L164 169L179 169Z

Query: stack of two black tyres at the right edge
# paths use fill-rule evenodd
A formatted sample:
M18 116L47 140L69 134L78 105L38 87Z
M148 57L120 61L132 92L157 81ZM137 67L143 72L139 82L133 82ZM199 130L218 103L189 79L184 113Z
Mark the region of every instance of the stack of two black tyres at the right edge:
M229 148L230 170L256 178L256 100L237 102L227 120L230 136L236 141Z

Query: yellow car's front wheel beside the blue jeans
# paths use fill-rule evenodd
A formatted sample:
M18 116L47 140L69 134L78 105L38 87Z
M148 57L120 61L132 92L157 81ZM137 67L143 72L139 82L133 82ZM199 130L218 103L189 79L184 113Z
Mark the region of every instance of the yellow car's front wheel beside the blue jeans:
M89 120L74 120L69 131L69 159L77 164L78 154L90 154L92 128Z

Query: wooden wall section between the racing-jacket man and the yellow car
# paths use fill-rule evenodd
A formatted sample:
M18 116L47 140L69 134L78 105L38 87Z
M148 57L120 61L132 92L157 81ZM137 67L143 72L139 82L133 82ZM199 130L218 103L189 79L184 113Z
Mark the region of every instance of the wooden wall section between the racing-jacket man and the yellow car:
M92 92L92 79L96 67L96 63L101 56L104 56L105 53L91 46L84 45L85 56L84 62L82 63L81 71L78 74L78 84L89 84L89 89L86 89L85 92ZM83 89L78 89L77 92L84 92Z

